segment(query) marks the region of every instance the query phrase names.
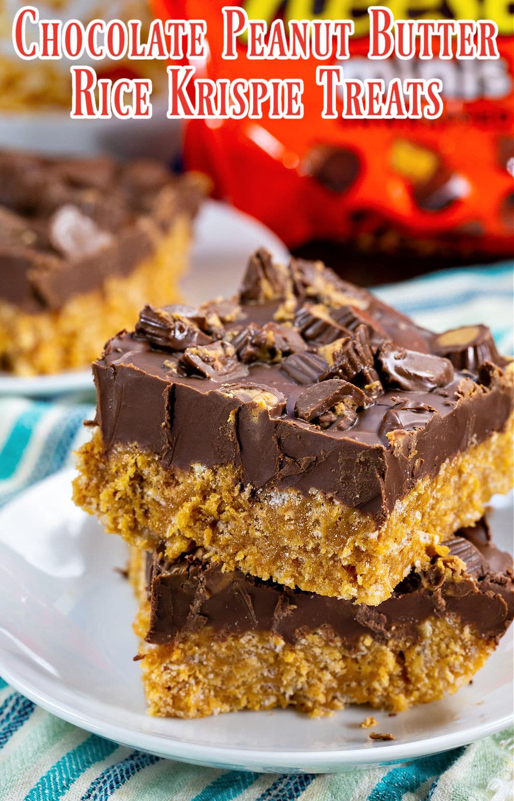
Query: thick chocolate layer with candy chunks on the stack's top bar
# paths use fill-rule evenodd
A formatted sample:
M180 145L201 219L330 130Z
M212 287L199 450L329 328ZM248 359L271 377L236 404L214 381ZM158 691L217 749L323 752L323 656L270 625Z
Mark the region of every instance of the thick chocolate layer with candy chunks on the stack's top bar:
M495 364L460 372L440 335L320 263L259 251L239 298L184 309L146 307L93 365L107 451L137 443L171 469L228 463L254 489L320 490L379 525L512 411ZM345 382L355 392L331 394ZM283 412L231 383L285 398Z

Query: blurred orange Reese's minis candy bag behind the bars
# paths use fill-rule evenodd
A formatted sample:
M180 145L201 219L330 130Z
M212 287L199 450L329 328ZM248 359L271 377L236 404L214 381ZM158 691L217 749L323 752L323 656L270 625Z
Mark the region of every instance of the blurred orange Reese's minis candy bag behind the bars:
M359 242L388 231L437 242L446 252L494 258L512 252L512 12L497 0L394 0L398 18L491 18L500 59L367 59L367 5L344 0L247 0L249 18L353 18L345 78L442 78L439 119L322 119L319 62L251 60L241 42L223 60L220 0L158 0L163 18L207 21L210 57L199 77L302 78L303 119L195 119L187 123L186 166L206 172L215 195L261 219L295 248L312 239ZM232 3L232 5L236 5ZM352 16L353 14L353 16ZM323 62L335 64L335 59Z

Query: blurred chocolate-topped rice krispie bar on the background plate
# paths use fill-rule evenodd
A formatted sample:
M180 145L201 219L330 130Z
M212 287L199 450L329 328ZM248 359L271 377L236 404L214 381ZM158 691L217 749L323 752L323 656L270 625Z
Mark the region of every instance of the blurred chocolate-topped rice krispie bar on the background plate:
M178 298L199 176L0 152L0 370L85 367L143 303Z

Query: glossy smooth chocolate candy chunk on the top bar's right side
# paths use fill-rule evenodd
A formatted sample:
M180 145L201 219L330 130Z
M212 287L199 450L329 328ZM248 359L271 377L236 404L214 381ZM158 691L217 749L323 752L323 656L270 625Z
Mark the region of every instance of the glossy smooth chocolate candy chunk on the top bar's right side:
M432 353L419 353L386 343L379 349L377 358L392 388L430 392L453 380L452 362Z

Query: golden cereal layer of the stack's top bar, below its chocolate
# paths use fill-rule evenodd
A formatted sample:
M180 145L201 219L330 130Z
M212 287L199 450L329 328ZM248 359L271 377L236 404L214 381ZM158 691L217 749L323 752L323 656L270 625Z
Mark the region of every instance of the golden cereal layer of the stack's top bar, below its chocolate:
M104 453L98 431L77 463L75 503L133 545L166 541L173 559L194 540L227 570L376 605L412 566L428 563L433 545L476 522L494 493L508 492L512 425L418 481L379 529L323 493L252 493L231 465L174 471L138 445Z

